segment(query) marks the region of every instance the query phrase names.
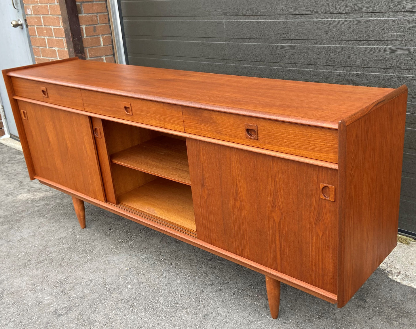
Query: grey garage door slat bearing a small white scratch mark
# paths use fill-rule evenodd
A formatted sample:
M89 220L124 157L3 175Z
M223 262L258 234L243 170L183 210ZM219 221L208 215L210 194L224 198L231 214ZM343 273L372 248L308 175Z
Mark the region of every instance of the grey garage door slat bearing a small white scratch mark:
M311 39L311 40L408 40L414 41L416 18L318 18L302 20L247 20L228 17L219 20L124 20L126 35L165 37L206 37L242 39ZM295 22L295 24L294 24ZM348 33L345 30L348 29ZM411 33L410 33L411 32ZM413 34L413 35L412 35Z

